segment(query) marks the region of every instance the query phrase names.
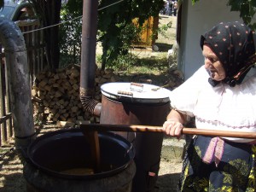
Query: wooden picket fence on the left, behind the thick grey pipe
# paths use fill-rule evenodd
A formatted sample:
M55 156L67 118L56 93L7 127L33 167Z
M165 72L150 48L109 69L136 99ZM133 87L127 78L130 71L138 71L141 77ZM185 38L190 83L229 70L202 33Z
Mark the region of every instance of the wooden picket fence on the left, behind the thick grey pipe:
M31 85L35 75L47 65L45 57L44 32L40 28L38 20L22 20L15 22L20 27L26 42L27 61L31 73ZM0 147L14 136L12 113L9 102L9 88L6 72L4 47L0 44ZM3 53L2 53L3 49Z

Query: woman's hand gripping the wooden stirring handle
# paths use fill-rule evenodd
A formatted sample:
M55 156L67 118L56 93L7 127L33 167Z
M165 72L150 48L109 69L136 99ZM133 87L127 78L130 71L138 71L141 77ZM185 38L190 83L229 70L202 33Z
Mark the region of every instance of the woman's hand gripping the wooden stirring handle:
M166 131L167 135L177 137L179 139L182 136L183 125L174 120L166 120L163 125L163 130Z

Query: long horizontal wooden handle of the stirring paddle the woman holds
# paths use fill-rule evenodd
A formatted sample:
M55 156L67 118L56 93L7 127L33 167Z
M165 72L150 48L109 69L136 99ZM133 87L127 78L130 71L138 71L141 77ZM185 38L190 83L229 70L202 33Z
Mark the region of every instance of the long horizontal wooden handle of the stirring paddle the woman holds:
M164 132L161 126L150 125L81 124L80 128L82 131ZM183 128L183 134L256 139L256 132L215 131L207 129Z

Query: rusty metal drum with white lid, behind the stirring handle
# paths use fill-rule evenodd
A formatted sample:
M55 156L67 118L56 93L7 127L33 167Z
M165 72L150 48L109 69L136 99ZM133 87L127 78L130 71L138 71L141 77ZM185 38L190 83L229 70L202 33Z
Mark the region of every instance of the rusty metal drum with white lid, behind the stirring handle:
M170 90L153 84L102 84L101 124L161 126L170 112ZM118 132L136 150L133 192L154 190L160 169L163 133Z

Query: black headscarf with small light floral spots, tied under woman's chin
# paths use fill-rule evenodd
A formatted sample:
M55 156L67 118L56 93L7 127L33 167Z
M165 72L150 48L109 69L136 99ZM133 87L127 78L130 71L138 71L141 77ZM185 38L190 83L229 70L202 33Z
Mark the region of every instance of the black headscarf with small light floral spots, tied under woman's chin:
M256 58L253 31L238 21L222 22L201 36L201 48L205 42L224 66L224 83L241 84ZM209 79L209 83L215 86L219 82Z

